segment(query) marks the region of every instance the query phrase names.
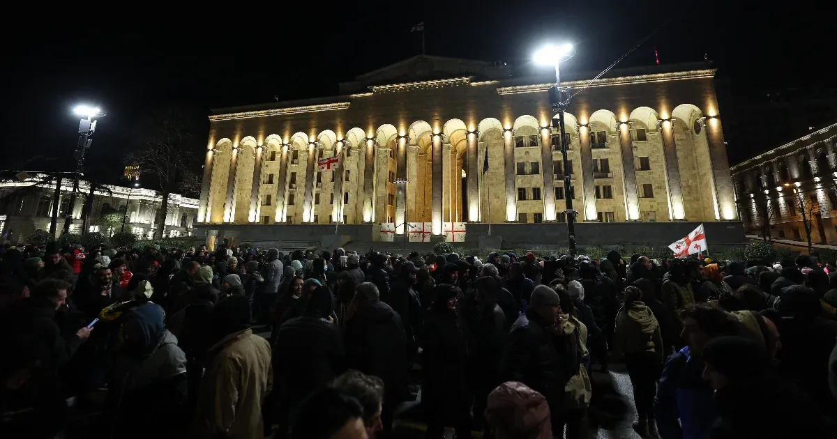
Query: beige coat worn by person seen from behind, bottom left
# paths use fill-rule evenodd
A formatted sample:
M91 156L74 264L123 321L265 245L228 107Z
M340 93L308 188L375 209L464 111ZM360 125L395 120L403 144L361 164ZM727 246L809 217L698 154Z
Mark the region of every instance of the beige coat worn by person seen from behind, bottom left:
M262 403L273 385L270 344L244 329L220 339L209 352L193 436L262 439Z

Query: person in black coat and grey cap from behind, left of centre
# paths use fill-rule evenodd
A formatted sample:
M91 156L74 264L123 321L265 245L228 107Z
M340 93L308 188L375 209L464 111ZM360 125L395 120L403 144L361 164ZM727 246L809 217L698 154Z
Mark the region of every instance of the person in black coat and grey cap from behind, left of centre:
M395 406L407 396L408 338L398 313L381 302L374 283L358 285L352 304L356 310L346 321L346 365L383 380L381 417L389 431Z

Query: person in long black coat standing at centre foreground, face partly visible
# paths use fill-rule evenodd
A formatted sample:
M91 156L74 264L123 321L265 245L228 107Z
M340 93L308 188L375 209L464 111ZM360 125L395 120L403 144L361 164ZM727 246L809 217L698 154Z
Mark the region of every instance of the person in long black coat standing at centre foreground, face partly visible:
M456 436L470 436L470 394L466 368L468 334L456 314L460 288L441 283L424 320L424 388L422 405L427 415L427 436L442 435L453 426Z

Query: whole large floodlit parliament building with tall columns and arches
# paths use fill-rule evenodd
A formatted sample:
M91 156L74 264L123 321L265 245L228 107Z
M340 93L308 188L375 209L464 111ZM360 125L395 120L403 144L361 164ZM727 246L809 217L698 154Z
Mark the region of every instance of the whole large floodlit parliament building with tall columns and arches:
M592 84L563 75L571 94L589 85L565 116L567 170L554 76L505 64L423 55L340 96L213 110L198 222L210 236L224 224L388 222L402 234L431 222L440 235L445 222L564 222L565 171L578 222L735 220L714 74L695 63Z

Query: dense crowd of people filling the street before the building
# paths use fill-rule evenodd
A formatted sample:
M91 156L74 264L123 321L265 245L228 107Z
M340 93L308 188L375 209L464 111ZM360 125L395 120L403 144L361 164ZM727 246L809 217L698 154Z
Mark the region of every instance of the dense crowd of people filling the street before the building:
M420 398L429 438L574 439L616 363L642 437L835 431L837 268L809 256L6 245L0 258L3 437L54 437L104 395L94 436L392 437L396 407Z

